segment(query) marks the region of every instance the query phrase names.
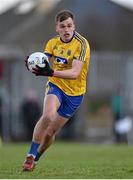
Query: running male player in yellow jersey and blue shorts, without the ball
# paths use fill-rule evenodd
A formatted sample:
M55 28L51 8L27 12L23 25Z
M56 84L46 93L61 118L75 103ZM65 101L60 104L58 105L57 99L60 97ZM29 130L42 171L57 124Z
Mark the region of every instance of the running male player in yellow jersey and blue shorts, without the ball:
M42 116L38 120L32 143L23 163L24 171L32 171L39 158L54 142L57 132L80 107L86 92L90 47L75 31L71 11L60 11L55 17L58 35L48 41L44 53L52 61L44 68L36 67L37 76L48 76ZM27 59L25 60L27 66Z

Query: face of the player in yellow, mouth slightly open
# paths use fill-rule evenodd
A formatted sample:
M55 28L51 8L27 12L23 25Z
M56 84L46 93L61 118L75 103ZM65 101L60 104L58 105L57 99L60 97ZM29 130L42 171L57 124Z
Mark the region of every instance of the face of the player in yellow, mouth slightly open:
M72 18L68 18L62 22L58 21L56 24L56 32L58 32L60 38L64 42L68 42L71 40L74 30L75 24Z

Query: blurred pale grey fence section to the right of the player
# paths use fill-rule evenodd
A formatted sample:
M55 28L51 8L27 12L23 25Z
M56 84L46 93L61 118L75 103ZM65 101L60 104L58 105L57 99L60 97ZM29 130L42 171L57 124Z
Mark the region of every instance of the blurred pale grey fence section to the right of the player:
M120 88L124 98L124 113L133 113L133 53L94 52L89 76L90 96L108 97Z

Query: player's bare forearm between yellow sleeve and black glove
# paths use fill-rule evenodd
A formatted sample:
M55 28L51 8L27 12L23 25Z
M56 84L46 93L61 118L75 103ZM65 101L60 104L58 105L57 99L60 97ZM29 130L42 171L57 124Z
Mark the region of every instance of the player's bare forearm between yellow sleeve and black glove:
M63 70L63 71L56 71L54 70L54 77L64 78L64 79L76 79L81 70L82 70L83 62L78 60L73 60L72 68Z

